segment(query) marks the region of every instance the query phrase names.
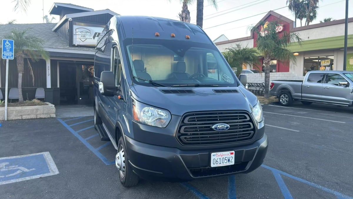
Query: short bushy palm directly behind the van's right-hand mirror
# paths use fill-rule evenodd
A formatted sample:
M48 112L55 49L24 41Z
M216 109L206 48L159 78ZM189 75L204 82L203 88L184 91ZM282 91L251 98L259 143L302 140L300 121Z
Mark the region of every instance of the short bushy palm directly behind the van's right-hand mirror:
M236 47L226 48L223 56L233 69L237 69L237 77L239 77L241 70L243 70L243 64L256 66L256 63L259 62L256 49L247 46L241 47L240 44L237 44Z

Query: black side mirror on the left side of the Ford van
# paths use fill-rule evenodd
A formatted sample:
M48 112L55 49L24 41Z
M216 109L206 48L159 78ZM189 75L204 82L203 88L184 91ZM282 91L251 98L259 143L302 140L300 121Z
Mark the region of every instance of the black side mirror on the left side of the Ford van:
M99 92L104 96L114 96L116 92L114 73L111 71L103 71L101 73L101 81L98 84Z

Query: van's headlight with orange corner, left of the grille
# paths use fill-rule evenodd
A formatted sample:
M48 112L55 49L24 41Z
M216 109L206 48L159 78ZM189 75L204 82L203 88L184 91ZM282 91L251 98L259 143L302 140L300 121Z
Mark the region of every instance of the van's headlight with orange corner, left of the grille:
M133 119L140 123L166 127L172 118L168 110L152 107L147 104L143 104L136 100L133 100Z

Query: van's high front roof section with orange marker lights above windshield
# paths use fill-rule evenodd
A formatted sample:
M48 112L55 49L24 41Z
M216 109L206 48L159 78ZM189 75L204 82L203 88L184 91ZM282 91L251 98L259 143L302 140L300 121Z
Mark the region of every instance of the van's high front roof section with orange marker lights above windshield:
M115 16L118 24L122 27L117 27L124 32L126 38L144 38L144 39L175 39L175 40L190 40L194 42L202 42L213 44L212 40L206 33L195 24L181 22L173 19L149 17L149 16ZM132 34L133 33L133 34ZM159 33L160 36L155 36ZM175 37L172 38L171 34ZM186 35L190 39L186 39Z

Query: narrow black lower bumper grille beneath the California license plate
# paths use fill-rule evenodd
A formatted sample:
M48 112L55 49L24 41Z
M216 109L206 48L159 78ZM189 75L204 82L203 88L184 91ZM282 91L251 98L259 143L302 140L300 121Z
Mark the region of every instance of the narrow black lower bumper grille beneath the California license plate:
M213 176L213 175L222 175L230 174L233 172L245 171L248 162L238 163L229 166L219 166L219 167L201 167L189 169L191 174L195 177L204 177L204 176Z

